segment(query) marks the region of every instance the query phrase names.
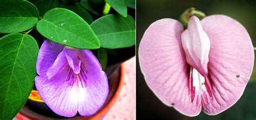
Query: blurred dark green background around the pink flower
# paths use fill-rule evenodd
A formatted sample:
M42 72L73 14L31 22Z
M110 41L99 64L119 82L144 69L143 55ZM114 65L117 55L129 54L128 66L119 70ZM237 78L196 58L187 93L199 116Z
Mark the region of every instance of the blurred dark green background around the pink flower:
M137 50L147 27L158 19L179 19L186 9L194 7L208 15L226 15L240 22L250 34L256 47L256 1L171 1L137 0L136 1ZM138 51L137 51L138 53ZM137 55L138 58L138 55ZM137 119L256 119L256 67L244 94L230 109L216 116L201 112L197 117L187 117L167 107L147 87L137 59Z

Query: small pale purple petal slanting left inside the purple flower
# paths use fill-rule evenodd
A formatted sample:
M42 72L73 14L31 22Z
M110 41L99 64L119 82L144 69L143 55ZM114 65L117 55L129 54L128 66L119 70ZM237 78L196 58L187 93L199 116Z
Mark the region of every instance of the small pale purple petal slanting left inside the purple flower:
M53 62L53 65L48 68L46 75L50 80L54 75L56 75L60 69L63 69L66 66L66 56L65 50L60 52L56 60Z

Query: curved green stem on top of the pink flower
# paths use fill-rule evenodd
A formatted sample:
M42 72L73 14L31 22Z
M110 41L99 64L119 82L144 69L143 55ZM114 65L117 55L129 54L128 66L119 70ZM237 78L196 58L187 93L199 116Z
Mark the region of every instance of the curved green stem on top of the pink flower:
M185 12L183 12L183 14L180 16L180 22L184 26L187 26L188 20L190 20L190 17L192 16L197 16L199 19L203 19L206 15L204 12L196 10L195 8L190 8L185 10Z

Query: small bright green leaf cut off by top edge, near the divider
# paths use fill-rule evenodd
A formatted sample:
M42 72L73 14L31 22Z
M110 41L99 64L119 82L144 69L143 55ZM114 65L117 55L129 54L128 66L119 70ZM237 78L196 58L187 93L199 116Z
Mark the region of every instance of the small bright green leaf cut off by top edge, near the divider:
M106 0L120 15L127 17L127 6L125 0Z

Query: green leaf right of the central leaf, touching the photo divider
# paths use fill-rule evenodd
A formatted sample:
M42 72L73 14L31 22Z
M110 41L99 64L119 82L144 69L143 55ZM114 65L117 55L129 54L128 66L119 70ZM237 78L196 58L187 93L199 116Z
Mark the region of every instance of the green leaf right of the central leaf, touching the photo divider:
M135 44L135 22L131 16L106 15L90 26L97 34L101 47L114 49Z

